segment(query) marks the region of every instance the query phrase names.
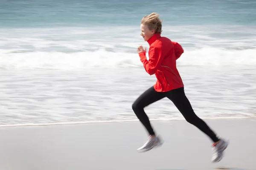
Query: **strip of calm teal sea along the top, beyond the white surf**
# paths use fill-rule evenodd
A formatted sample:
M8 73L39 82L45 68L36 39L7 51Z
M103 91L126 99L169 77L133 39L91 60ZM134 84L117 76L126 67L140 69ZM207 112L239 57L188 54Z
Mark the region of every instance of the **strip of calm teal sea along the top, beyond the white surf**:
M177 25L256 25L254 0L8 0L1 27L131 26L151 12Z

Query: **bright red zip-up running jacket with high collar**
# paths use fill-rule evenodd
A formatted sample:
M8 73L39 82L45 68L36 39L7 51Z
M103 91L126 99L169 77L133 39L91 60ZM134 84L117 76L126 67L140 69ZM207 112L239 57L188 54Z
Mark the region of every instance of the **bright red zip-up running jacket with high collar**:
M183 87L183 82L176 68L176 59L184 52L181 45L172 42L160 34L154 34L149 40L149 59L141 52L140 60L148 74L155 74L157 82L154 89L158 92L171 91Z

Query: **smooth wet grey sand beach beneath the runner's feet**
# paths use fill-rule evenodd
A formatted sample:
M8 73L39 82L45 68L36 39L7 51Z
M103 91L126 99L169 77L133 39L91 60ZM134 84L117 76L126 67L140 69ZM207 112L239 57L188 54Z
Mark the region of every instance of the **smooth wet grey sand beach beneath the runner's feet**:
M253 119L205 119L230 140L224 159L211 163L211 141L180 121L153 121L164 140L146 153L137 148L147 134L140 122L0 128L1 170L256 170Z

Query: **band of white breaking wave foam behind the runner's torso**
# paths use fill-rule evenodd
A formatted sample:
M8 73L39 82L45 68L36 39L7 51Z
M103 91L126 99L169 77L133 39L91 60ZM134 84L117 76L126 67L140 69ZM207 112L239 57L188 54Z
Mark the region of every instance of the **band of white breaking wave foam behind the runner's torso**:
M256 49L185 49L180 59L177 60L177 65L256 65L255 54ZM73 53L44 51L10 53L0 51L0 60L0 68L5 69L76 69L142 66L140 58L135 52L115 52L107 51L106 49Z

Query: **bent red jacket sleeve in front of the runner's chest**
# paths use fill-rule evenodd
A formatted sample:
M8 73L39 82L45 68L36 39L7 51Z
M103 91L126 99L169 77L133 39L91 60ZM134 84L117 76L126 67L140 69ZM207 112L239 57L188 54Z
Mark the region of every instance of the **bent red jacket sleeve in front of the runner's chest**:
M140 61L143 63L143 67L149 75L155 74L157 68L161 65L164 55L162 53L162 45L157 45L157 47L149 48L149 59L147 60L145 52L139 53Z

